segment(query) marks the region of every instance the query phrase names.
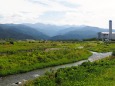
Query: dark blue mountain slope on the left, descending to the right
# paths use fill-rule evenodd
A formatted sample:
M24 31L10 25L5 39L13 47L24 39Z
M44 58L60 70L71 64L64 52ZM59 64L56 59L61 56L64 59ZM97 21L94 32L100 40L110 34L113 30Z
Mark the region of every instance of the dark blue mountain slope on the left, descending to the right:
M48 39L49 37L22 24L0 24L0 38Z

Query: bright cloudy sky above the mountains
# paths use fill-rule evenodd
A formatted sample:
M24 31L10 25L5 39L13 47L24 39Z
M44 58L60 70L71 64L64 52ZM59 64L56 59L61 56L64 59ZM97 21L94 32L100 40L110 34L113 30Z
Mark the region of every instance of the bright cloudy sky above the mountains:
M0 0L0 23L115 28L115 0Z

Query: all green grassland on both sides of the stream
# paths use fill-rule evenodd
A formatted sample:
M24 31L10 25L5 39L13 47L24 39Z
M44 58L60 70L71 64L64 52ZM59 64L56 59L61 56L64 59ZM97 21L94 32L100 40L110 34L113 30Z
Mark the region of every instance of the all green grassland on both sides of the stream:
M47 72L25 86L115 86L115 43L100 41L0 41L0 77L87 59L95 52L112 57Z

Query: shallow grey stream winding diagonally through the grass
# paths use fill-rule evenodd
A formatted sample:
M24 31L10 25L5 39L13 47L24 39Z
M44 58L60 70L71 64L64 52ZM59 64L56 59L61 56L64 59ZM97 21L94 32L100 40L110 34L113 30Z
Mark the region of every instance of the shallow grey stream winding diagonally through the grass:
M112 54L111 52L108 52L108 53L92 52L92 53L93 53L93 55L90 56L88 58L88 60L82 60L82 61L75 62L75 63L59 65L59 66L55 66L55 67L48 67L48 68L38 69L38 70L31 71L31 72L23 73L23 74L10 75L10 76L0 78L0 86L16 86L15 83L17 83L17 82L23 82L25 80L34 79L38 76L43 75L46 71L50 71L51 69L57 70L59 68L78 66L78 65L81 65L83 62L87 62L87 61L93 62L95 60L110 56Z

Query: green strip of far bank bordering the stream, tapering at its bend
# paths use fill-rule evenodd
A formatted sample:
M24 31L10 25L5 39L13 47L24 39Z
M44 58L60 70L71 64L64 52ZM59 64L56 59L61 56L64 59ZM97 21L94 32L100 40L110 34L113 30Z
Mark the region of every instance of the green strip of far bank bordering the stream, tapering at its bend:
M85 49L60 49L16 53L0 57L0 76L24 73L35 69L72 63L87 59L92 54Z

